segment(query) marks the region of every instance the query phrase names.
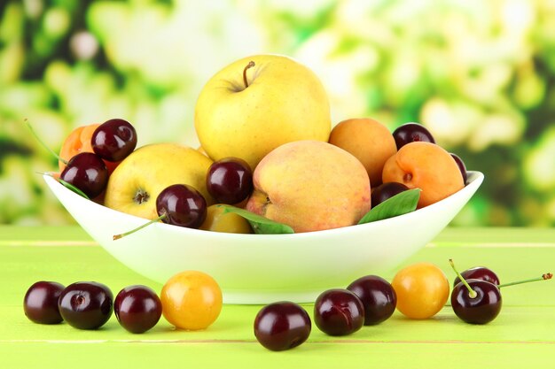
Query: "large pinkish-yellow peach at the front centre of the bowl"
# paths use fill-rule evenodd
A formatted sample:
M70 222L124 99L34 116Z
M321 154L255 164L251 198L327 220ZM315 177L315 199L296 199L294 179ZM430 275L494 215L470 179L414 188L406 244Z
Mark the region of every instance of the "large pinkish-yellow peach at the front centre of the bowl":
M354 225L370 211L363 164L327 142L289 142L254 170L246 210L293 227L296 233Z

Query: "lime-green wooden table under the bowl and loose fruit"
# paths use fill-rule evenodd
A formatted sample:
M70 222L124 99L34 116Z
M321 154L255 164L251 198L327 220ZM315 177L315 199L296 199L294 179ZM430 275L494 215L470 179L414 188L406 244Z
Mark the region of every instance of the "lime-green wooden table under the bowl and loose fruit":
M487 265L502 281L555 271L555 229L447 228L405 265L428 261L452 280L459 269ZM393 278L395 271L383 275ZM253 334L261 306L224 305L205 331L176 331L163 318L145 334L129 334L113 316L97 331L31 323L23 296L35 281L100 281L114 295L154 283L100 248L80 227L0 226L0 368L551 368L555 367L555 282L504 288L504 305L486 326L463 323L445 306L433 319L395 312L377 327L330 337L313 325L309 341L272 352ZM312 306L305 305L312 315Z

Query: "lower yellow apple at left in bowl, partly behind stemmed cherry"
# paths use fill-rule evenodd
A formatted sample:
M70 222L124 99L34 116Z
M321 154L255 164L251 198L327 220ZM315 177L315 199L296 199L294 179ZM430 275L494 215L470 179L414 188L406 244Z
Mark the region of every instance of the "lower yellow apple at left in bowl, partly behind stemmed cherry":
M104 204L145 219L155 219L156 197L173 184L188 184L214 204L206 175L212 160L198 150L174 143L155 143L133 151L108 180Z

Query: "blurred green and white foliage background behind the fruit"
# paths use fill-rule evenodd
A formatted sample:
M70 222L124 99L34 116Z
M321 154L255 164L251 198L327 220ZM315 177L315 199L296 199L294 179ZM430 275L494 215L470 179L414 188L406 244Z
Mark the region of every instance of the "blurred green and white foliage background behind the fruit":
M333 123L425 124L486 180L451 223L555 225L555 2L0 1L0 224L74 220L37 172L74 127L197 145L212 74L279 53L324 82Z

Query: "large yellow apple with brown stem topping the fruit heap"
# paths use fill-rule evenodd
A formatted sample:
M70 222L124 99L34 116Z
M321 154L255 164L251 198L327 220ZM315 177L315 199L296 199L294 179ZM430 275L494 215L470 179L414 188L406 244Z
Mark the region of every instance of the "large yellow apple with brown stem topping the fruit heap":
M207 81L195 107L195 129L210 158L242 158L255 168L285 142L327 142L330 104L307 66L284 56L255 55Z

